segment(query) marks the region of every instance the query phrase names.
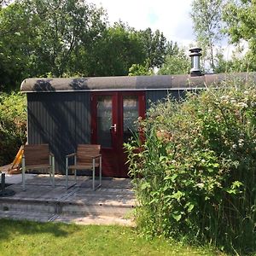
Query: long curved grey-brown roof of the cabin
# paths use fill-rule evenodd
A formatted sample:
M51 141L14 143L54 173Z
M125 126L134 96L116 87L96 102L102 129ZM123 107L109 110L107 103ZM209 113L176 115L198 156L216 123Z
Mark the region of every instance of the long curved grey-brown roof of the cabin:
M202 88L219 84L230 79L252 79L256 73L220 73L192 77L190 75L155 75L127 77L97 77L70 79L25 79L20 90L39 91L78 91L78 90L183 90Z

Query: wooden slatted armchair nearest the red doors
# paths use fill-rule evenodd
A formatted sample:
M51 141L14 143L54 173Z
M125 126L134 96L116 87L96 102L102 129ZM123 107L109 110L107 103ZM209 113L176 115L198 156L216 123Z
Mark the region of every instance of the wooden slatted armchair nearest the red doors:
M68 189L68 170L72 170L77 183L77 170L92 171L92 189L95 190L102 185L102 154L101 145L79 144L77 152L66 156L66 185ZM68 165L69 158L73 157L73 165ZM95 188L95 169L99 167L99 185Z

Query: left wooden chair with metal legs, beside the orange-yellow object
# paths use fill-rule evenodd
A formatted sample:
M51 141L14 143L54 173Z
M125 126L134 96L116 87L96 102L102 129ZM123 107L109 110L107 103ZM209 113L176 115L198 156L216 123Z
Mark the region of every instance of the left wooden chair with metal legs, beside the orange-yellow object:
M22 154L22 189L26 189L26 170L49 169L50 182L55 187L55 156L49 152L49 144L25 145Z

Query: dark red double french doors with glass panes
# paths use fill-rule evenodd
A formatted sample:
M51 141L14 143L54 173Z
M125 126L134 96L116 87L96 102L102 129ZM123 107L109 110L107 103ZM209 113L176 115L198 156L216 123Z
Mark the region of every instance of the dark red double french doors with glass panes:
M143 91L94 92L91 96L91 143L102 145L103 176L127 177L123 144L133 131L134 121L145 116Z

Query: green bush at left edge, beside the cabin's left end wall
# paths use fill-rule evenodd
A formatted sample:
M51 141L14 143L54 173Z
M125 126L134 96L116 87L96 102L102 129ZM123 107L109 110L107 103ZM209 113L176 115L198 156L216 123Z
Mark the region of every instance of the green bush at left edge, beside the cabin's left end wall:
M26 96L0 93L0 166L9 164L26 142Z

